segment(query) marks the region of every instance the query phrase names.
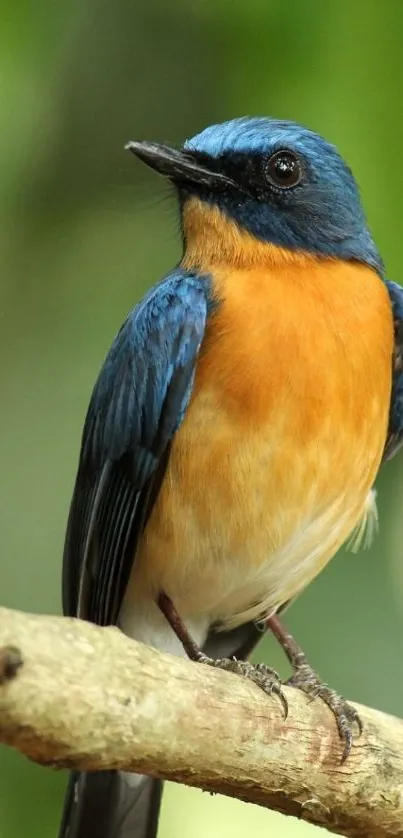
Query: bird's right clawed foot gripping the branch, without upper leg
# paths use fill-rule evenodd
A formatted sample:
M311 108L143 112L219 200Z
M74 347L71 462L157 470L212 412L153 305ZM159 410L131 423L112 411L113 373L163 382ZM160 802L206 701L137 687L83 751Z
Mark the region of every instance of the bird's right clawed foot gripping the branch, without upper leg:
M321 698L327 704L336 720L339 736L344 745L341 761L345 762L351 751L354 728L358 730L359 736L363 729L362 721L354 707L323 683L306 660L300 659L294 666L291 678L285 684L287 687L297 687L312 700Z

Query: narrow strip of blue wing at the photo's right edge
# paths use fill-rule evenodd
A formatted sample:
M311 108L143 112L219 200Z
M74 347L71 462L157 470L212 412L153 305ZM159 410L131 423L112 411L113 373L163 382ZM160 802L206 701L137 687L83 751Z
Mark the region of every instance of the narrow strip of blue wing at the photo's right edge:
M403 288L396 282L386 282L392 303L395 331L393 353L392 398L389 427L383 460L390 460L403 443Z

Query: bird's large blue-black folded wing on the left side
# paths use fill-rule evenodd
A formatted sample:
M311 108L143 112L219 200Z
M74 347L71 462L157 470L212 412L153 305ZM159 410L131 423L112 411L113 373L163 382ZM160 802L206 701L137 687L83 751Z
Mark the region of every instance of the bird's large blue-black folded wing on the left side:
M63 556L63 609L115 623L192 392L206 277L177 270L129 314L88 409Z

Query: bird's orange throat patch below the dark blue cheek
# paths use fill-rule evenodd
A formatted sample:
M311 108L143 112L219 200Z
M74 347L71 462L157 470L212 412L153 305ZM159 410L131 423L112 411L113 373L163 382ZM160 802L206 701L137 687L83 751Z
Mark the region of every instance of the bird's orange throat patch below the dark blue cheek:
M182 267L209 272L215 267L267 266L270 269L304 265L315 257L261 241L226 216L218 207L189 198L182 211L185 241Z

